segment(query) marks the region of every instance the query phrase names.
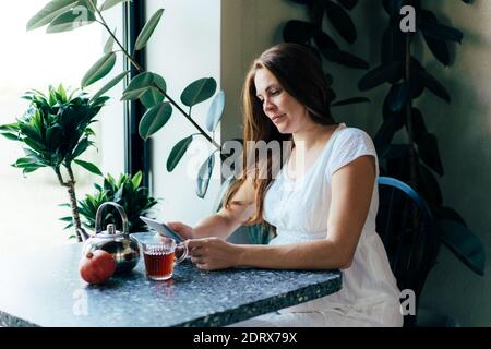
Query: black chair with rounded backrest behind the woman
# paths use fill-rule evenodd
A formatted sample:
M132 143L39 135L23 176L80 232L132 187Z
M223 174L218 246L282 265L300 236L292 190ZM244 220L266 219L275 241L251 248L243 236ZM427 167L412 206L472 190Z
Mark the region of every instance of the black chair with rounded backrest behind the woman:
M406 315L404 326L416 326L418 301L440 249L440 236L424 200L406 183L379 178L376 231L388 255L397 286L412 290L416 315Z

